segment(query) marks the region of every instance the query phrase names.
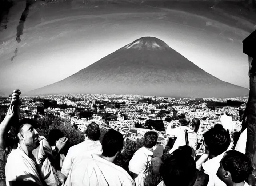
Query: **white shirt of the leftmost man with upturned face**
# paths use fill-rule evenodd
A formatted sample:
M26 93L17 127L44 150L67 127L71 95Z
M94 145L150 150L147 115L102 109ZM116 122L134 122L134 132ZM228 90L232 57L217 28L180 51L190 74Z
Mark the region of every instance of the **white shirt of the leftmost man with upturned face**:
M42 185L36 163L20 148L12 150L5 166L6 185L11 181L32 181Z

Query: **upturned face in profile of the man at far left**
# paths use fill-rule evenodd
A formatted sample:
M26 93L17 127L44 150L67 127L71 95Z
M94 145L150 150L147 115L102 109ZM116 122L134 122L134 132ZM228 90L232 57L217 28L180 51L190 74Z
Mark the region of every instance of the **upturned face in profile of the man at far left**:
M21 134L26 146L33 147L33 149L39 146L39 134L31 124L24 124Z

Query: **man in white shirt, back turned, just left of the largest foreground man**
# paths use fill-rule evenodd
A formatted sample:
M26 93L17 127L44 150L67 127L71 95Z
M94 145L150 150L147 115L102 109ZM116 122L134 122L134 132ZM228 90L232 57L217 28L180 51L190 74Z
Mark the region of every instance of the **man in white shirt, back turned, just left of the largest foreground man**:
M85 141L72 146L65 157L61 173L67 178L72 163L76 158L90 156L91 154L101 154L102 146L99 141L100 127L96 123L91 123L85 130Z

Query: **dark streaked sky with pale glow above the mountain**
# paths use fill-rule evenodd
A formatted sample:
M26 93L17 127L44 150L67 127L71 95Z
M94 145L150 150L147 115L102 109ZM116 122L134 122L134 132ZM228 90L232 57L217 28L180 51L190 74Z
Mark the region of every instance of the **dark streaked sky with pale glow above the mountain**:
M249 3L13 1L1 17L0 90L60 81L144 36L163 40L223 81L249 88L242 45L256 29Z

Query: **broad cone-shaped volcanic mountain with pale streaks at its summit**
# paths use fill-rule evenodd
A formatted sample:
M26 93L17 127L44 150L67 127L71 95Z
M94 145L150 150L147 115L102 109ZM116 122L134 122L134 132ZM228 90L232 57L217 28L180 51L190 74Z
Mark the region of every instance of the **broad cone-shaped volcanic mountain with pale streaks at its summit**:
M249 90L205 72L160 39L142 37L64 80L28 92L76 93L227 98Z

